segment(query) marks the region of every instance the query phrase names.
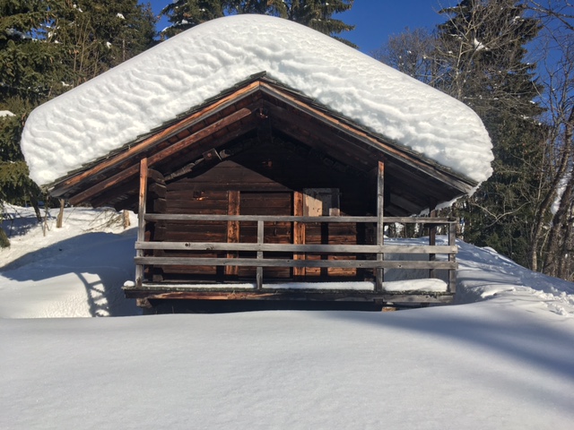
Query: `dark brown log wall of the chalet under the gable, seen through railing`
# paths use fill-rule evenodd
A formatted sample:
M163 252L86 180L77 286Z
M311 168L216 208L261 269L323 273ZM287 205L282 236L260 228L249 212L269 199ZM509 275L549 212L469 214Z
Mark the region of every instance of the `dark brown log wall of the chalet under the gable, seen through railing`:
M283 154L284 155L284 154ZM275 154L274 158L281 158ZM275 159L265 162L257 161L260 172L253 166L245 167L234 161L223 161L204 174L193 177L182 176L178 180L164 185L162 193L152 192L152 202L148 202L151 212L173 214L241 214L241 215L293 215L295 214L296 198L301 191L265 176L266 168L273 168ZM295 160L287 168L299 166L301 175L305 176L304 185L315 185L312 175L309 177L309 165L302 159ZM311 169L312 170L312 169ZM305 171L303 174L302 172ZM283 168L278 170L278 176L284 175ZM297 172L296 172L297 173ZM318 172L319 174L321 172ZM317 172L315 173L317 174ZM290 176L293 172L290 173ZM297 176L295 174L295 176ZM340 177L338 174L336 177ZM325 181L324 179L322 179ZM287 182L287 181L285 181ZM345 185L346 184L346 185ZM290 184L292 185L292 184ZM325 185L321 183L320 185ZM329 184L327 184L329 185ZM364 211L357 208L357 202L364 205L357 198L357 186L353 181L344 182L339 179L343 187L341 193L341 206L344 215L345 208L353 215ZM151 185L155 190L156 185ZM364 188L364 186L363 186ZM302 188L301 188L302 190ZM374 196L373 196L374 200ZM297 203L299 206L301 202ZM297 211L301 211L299 207ZM225 221L161 221L147 227L147 237L152 241L170 242L242 242L257 243L257 223ZM354 223L324 224L310 223L305 226L304 235L301 236L301 227L291 222L265 223L265 243L292 244L294 241L305 240L308 244L330 245L357 245L365 244L368 235L364 233L364 226L357 228ZM298 237L297 239L295 237ZM164 256L197 256L197 257L232 257L230 253L223 252L191 252L191 251L161 251ZM235 253L240 257L254 257L256 253ZM277 253L274 258L293 258L292 253ZM298 259L320 260L325 255L297 255ZM358 271L354 268L265 268L265 280L332 280L335 278L355 279ZM361 274L364 274L361 271ZM215 266L164 266L162 271L149 271L146 273L148 281L163 282L193 282L199 280L246 280L255 279L256 268L251 267L215 267Z

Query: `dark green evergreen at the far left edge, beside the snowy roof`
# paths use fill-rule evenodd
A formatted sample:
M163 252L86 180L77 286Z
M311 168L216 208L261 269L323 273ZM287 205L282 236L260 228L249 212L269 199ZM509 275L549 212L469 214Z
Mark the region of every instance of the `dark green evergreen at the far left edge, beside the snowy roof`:
M30 110L64 90L72 74L65 49L44 43L63 2L0 0L0 202L32 202L39 188L28 176L20 135ZM39 210L37 209L39 216Z

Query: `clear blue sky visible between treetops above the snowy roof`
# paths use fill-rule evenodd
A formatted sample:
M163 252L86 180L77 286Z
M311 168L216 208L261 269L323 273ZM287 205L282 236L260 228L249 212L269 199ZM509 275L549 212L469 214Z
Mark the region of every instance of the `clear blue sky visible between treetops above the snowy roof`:
M171 0L150 0L154 13ZM362 52L370 54L383 45L388 37L402 32L405 28L432 28L444 22L436 11L442 6L456 4L454 0L355 0L352 9L335 15L344 22L355 25L355 30L342 34L345 39L358 45ZM158 28L168 25L165 19Z

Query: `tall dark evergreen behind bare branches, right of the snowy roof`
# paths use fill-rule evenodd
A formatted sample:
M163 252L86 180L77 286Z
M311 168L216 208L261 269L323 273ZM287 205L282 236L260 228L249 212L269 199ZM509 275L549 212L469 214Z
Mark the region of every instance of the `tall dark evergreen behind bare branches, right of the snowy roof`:
M481 116L491 135L494 173L457 204L465 239L489 245L527 265L532 220L544 195L544 127L535 103L540 88L526 44L540 28L516 0L464 0L442 13L436 85Z

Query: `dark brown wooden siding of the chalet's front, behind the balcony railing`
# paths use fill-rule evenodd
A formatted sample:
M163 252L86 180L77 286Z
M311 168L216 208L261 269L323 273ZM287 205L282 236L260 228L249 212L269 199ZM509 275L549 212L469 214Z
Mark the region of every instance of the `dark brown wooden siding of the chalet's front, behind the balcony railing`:
M253 151L257 150L257 158ZM263 160L263 161L262 161ZM273 177L269 177L273 176ZM374 179L374 178L373 178ZM289 149L272 148L270 145L258 145L254 150L240 153L232 160L225 160L194 176L187 174L174 180L158 193L157 185L150 185L152 202L148 203L151 212L167 214L200 215L294 215L294 199L297 190L310 186L326 187L340 192L341 214L362 214L365 212L365 200L358 198L357 190L369 189L365 178L334 174L327 166L305 160ZM336 186L335 186L336 185ZM291 188L297 186L297 188ZM370 186L372 188L372 186ZM238 202L230 204L234 199ZM317 219L318 221L318 219ZM294 229L291 222L273 222L265 225L265 244L293 244ZM230 231L238 231L231 233ZM358 245L367 244L370 236L365 228L357 228L355 223L327 225L308 223L304 240L307 244ZM235 236L234 236L235 235ZM146 237L152 241L167 242L239 242L257 243L257 223L246 222L230 225L225 221L162 220L148 223ZM148 251L148 254L152 254ZM255 257L256 252L225 252L161 250L153 256L163 257L203 257L232 258ZM274 258L294 258L292 252L274 253ZM321 254L298 254L300 259L318 261L339 257ZM354 258L354 257L352 257ZM253 267L215 267L215 266L164 266L161 271L148 270L146 280L182 282L193 280L253 280L256 277ZM335 278L357 279L367 271L355 268L315 267L295 270L293 268L265 268L263 276L267 280L330 280Z

